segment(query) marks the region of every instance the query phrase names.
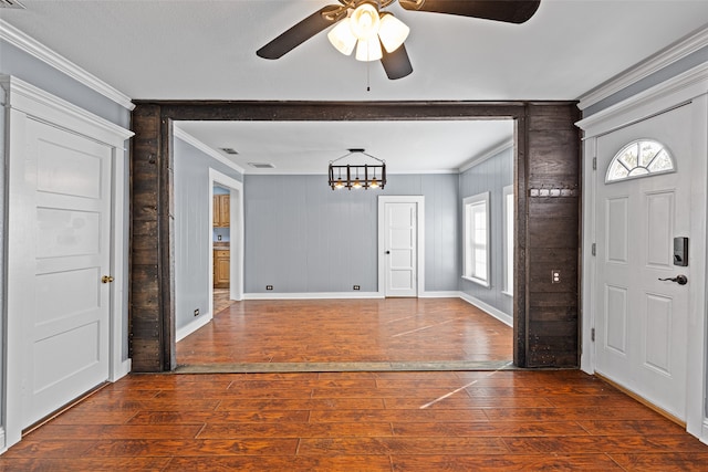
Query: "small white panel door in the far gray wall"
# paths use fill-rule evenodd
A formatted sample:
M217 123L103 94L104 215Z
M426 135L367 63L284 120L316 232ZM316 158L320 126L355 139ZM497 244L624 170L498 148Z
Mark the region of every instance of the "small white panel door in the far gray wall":
M418 295L417 208L415 202L384 204L386 296Z

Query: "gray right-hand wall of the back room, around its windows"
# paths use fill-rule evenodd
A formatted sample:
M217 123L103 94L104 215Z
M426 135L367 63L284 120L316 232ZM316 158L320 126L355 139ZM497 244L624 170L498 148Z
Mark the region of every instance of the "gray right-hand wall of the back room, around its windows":
M486 287L461 279L458 273L460 290L481 300L494 308L512 315L513 298L501 293L503 289L503 188L513 183L513 149L509 148L479 165L460 174L459 220L462 221L462 199L483 191L489 191L489 211L491 219L491 283ZM460 230L460 251L461 251Z

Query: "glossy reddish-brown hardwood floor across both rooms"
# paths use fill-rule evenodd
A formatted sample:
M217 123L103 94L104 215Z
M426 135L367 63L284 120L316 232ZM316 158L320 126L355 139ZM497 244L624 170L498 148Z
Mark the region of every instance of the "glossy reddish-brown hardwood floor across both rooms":
M321 307L332 304L248 302L231 307L214 325L241 326L241 333L231 333L237 337L231 344L239 348L217 342L214 354L200 359L218 358L219 346L228 349L229 359L251 352L259 361L271 356L327 359L339 352L371 359L391 349L391 343L366 337L397 333L412 333L397 344L402 358L445 356L450 346L465 356L510 349L503 344L507 350L470 347L471 339L480 342L480 333L491 339L499 335L473 328L457 333L465 325L452 314L457 308L451 301L394 303L415 315L400 324L382 317L379 303L339 302L379 313L379 326L364 324L354 337L350 324L323 324ZM430 317L438 304L440 319L449 319L441 326ZM290 312L301 307L317 323L304 324L304 315L291 313L289 324L282 319L288 317L285 305ZM290 342L314 329L340 346L322 348L322 354L309 346L284 348L284 340L257 339L254 327L243 323L247 317L269 319L266 324L280 317L281 326L290 326L284 332ZM421 346L425 332L439 349ZM216 335L214 327L207 333L206 338ZM246 349L243 344L251 342L252 349ZM192 347L209 346L205 338L199 343ZM360 344L374 348L374 355ZM133 374L0 457L3 471L705 471L706 464L708 445L577 370Z

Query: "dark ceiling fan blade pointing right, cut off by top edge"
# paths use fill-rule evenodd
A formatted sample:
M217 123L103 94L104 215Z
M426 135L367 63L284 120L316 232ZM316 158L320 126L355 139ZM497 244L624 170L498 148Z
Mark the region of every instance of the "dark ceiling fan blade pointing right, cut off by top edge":
M398 3L406 10L523 23L533 17L541 0L398 0Z

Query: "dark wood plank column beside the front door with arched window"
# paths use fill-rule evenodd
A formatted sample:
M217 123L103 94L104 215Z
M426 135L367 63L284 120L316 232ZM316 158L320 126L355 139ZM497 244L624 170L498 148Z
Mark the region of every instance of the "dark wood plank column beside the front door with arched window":
M525 367L580 365L577 119L574 104L527 106Z

